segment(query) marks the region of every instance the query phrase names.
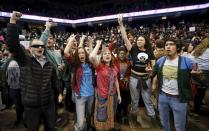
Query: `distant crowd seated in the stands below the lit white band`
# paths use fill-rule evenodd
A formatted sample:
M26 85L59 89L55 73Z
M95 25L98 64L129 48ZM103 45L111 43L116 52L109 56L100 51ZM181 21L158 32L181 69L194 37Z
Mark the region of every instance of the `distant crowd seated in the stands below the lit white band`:
M150 38L151 43L154 43L156 39L162 39L166 37L178 37L185 42L194 41L198 43L204 38L205 32L209 30L207 21L179 21L175 23L167 21L135 26L127 24L125 26L128 33L132 34L133 36L144 34ZM43 28L31 28L27 30L23 29L21 32L24 37L21 40L30 41L34 38L40 38L42 31ZM86 31L74 30L70 32L52 29L52 35L56 39L56 48L63 48L65 46L64 44L67 42L67 38L71 34L75 34L77 36L77 40L79 40L82 34L84 34L93 38L103 37L106 43L111 42L113 39L117 39L119 41L118 46L121 46L121 42L123 42L119 27L117 26L103 28L93 27L89 30L87 29ZM2 27L0 32L1 39L5 39L5 35L6 31Z

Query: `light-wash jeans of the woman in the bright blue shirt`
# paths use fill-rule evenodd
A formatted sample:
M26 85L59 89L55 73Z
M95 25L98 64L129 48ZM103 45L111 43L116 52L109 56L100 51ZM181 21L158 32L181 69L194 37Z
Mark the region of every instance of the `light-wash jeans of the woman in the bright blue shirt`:
M75 96L76 117L75 131L84 129L84 120L86 116L87 124L91 124L93 112L94 96Z

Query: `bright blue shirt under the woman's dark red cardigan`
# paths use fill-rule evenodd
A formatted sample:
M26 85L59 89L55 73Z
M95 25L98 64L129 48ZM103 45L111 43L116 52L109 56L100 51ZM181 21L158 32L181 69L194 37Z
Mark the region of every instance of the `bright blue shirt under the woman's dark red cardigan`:
M93 96L94 95L94 87L92 80L92 69L89 64L82 64L82 80L81 80L81 88L80 95L81 96Z

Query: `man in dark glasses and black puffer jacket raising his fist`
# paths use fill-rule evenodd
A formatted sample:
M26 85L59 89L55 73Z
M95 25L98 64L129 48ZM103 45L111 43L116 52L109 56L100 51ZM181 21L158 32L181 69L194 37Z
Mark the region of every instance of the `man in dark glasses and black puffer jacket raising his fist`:
M44 43L34 39L27 54L20 46L16 22L20 12L13 12L7 26L7 44L20 66L20 87L24 117L28 131L38 131L43 120L45 130L55 130L56 70L44 56ZM50 29L51 22L46 23Z

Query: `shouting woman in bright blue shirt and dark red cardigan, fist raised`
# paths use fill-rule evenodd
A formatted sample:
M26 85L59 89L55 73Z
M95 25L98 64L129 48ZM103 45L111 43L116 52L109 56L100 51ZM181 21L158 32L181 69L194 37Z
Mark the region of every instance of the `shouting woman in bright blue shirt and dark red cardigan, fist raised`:
M78 47L72 52L75 36L71 35L64 53L68 63L72 66L71 87L75 96L76 105L76 124L75 131L82 131L85 127L85 118L87 130L92 129L92 107L94 102L94 69L89 62L89 57L84 47ZM86 116L86 117L85 117Z

